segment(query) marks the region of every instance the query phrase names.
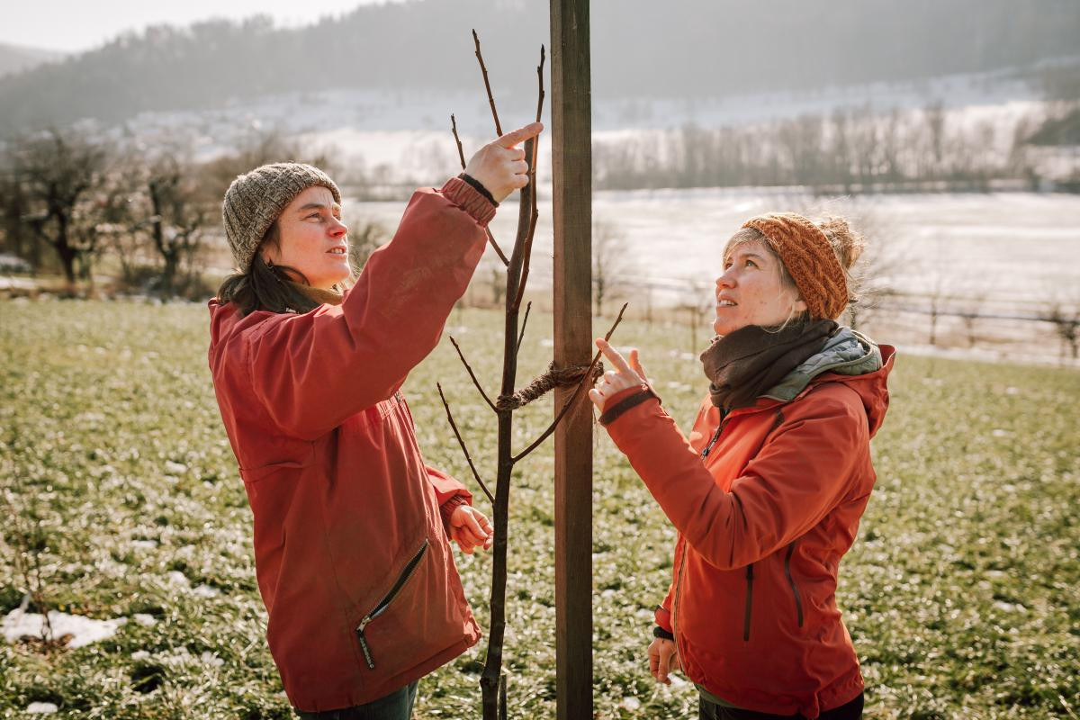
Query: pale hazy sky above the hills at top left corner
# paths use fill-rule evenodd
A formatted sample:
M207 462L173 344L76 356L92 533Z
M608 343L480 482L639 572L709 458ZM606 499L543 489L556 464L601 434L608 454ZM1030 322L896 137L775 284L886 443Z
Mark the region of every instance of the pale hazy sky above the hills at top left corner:
M306 25L323 15L384 0L12 0L2 12L0 42L46 50L80 51L100 45L124 30L171 23L187 25L211 17L256 14L279 23Z

